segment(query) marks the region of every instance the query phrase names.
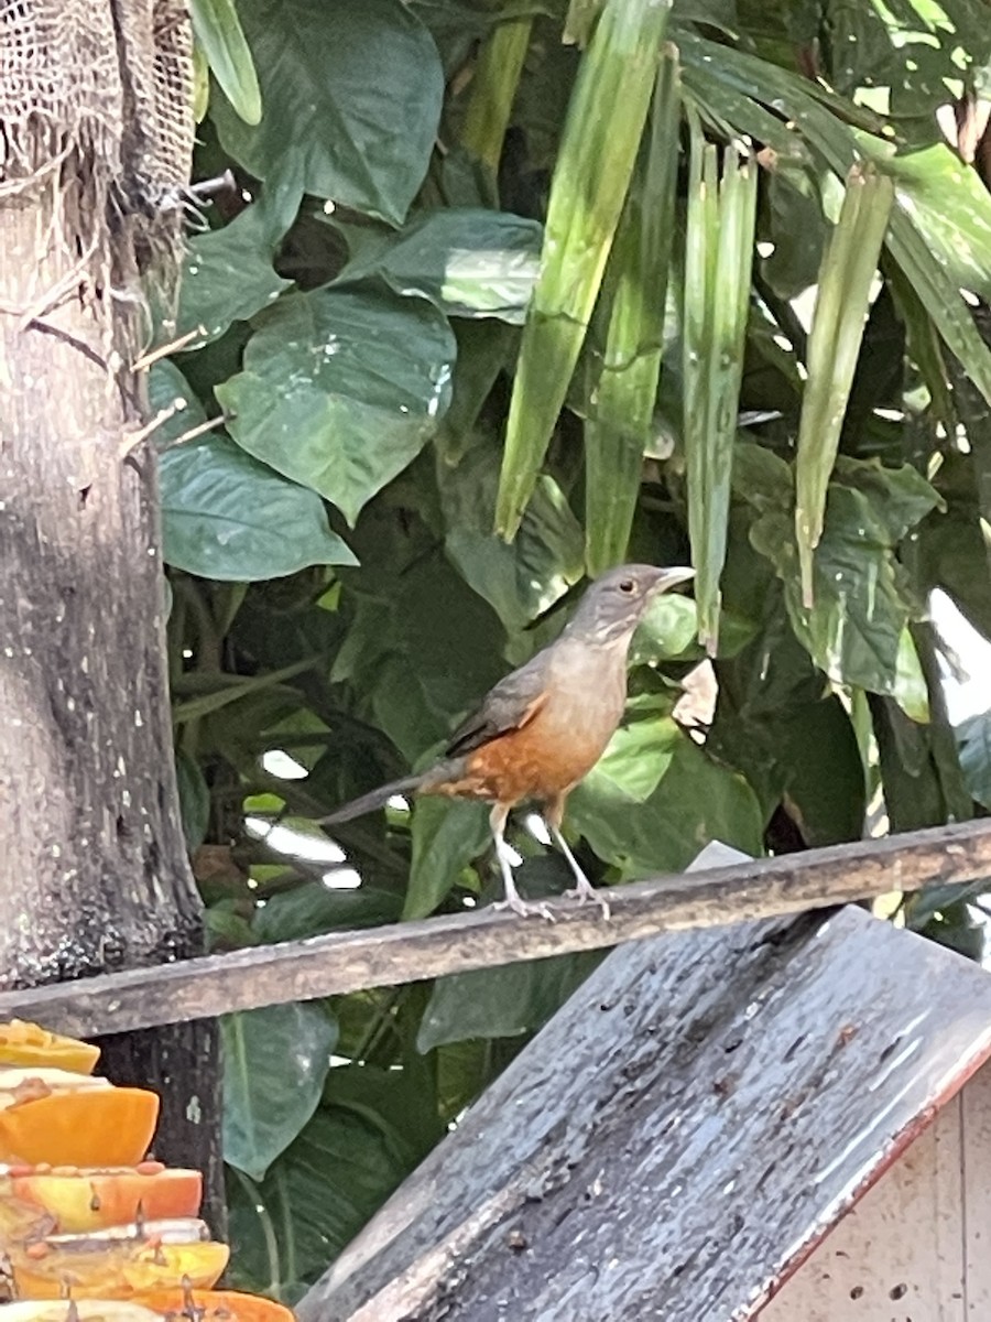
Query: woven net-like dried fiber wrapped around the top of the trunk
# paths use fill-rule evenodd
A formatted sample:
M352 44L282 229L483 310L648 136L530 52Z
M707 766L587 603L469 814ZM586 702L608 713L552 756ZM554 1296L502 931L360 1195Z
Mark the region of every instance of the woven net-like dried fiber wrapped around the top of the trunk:
M115 284L181 234L190 44L185 0L0 0L0 205L49 190L50 237Z

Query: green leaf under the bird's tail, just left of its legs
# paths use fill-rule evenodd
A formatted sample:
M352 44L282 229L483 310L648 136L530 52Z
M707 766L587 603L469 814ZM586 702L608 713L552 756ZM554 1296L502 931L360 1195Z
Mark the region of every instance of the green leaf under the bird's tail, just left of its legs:
M432 914L462 869L492 841L484 804L422 798L412 818L412 865L403 917Z

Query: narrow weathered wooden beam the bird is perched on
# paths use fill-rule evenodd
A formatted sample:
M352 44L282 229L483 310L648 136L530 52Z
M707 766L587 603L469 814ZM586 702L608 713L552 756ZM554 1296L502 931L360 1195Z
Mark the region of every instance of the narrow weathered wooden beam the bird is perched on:
M616 887L609 921L567 900L551 902L555 923L485 908L4 992L0 1021L124 1032L984 876L991 822L963 822Z

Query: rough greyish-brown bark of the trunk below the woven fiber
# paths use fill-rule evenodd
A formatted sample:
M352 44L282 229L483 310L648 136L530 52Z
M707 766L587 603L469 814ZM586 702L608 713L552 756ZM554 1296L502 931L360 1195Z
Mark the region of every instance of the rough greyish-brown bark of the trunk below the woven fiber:
M0 126L3 127L3 126ZM99 163L0 185L0 985L202 949L164 666L155 456L129 370L135 234ZM115 230L116 226L116 230ZM160 1157L215 1179L209 1022L104 1040L164 1085Z

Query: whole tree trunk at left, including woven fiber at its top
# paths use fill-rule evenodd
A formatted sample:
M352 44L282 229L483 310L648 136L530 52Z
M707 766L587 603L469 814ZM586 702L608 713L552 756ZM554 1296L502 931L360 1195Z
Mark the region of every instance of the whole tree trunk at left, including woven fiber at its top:
M5 988L202 949L172 761L156 464L131 368L141 276L153 258L160 283L174 276L188 63L173 0L40 0L0 32ZM213 1025L103 1046L111 1077L161 1089L157 1155L217 1187Z

